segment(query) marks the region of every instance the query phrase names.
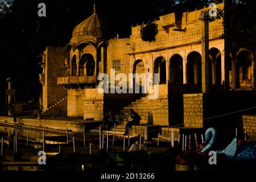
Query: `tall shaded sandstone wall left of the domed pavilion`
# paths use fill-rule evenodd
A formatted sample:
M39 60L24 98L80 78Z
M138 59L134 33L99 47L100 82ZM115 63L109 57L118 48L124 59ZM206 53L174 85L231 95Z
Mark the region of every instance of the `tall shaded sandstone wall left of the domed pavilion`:
M49 109L67 96L67 90L57 85L57 76L64 74L64 47L47 47L44 51L46 67L44 68L43 107ZM67 114L67 104L59 105L61 112ZM51 107L51 110L59 110L59 107Z

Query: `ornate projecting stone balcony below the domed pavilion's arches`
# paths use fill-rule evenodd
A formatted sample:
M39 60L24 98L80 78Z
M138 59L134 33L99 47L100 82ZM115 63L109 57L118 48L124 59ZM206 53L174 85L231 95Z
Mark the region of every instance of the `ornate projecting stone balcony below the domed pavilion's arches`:
M64 76L57 78L57 85L64 86L65 88L85 88L94 87L96 85L96 76Z

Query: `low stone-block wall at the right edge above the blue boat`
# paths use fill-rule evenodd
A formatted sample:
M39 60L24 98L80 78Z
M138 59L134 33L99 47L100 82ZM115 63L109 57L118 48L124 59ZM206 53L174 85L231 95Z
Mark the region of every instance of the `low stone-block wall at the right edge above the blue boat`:
M256 140L256 115L243 115L243 133L246 133L249 140Z

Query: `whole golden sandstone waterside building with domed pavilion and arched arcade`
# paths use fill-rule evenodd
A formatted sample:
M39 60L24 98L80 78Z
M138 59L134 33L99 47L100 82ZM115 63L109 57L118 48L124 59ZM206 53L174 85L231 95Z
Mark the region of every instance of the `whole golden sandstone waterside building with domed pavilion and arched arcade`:
M223 9L224 3L217 7ZM156 40L148 43L141 39L140 26L131 27L130 38L109 39L108 25L94 7L93 14L74 28L67 46L47 47L44 52L40 75L44 110L97 121L114 110L117 119L125 121L132 108L148 125L205 127L208 118L238 109L233 100L238 96L229 93L247 92L238 102L248 105L246 98L251 98L256 87L251 50L241 47L232 62L225 53L225 40L220 39L223 25L218 20L206 27L209 49L205 52L205 27L199 18L207 9L160 16L155 21ZM159 73L159 97L148 100L147 94L98 93L97 76L110 75L110 69L127 77L129 73ZM206 91L202 89L205 80Z

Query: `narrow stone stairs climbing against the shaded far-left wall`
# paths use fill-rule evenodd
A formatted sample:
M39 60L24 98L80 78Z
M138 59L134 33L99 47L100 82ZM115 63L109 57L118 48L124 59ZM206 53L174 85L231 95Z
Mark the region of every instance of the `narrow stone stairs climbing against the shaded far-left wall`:
M49 106L47 109L44 109L43 110L43 115L52 115L52 114L59 115L59 114L61 114L60 110L63 111L62 107L67 106L67 104L64 104L64 102L67 102L67 98L68 97L65 96L61 100L57 101L55 104Z

